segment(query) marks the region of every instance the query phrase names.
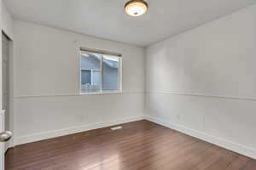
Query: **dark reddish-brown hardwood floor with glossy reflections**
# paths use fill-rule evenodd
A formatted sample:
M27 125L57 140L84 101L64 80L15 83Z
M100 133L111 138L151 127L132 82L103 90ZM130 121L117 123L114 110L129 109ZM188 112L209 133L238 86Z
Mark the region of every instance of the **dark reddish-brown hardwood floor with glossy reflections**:
M10 149L6 170L255 170L256 161L148 121Z

